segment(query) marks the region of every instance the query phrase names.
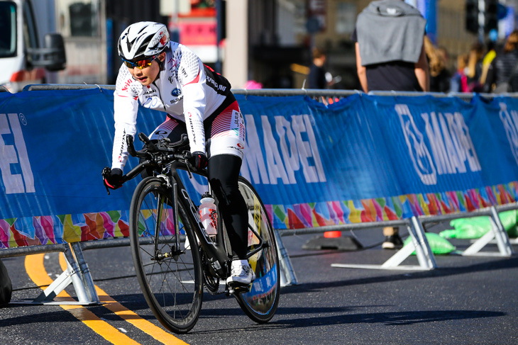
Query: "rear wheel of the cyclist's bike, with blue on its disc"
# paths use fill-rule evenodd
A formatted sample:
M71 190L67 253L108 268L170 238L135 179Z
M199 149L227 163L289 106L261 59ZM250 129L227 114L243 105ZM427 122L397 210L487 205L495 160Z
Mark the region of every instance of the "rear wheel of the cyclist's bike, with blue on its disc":
M235 293L234 295L241 309L250 319L258 323L265 323L275 315L280 298L277 242L275 242L275 234L265 205L260 200L258 193L242 176L239 176L238 182L239 191L248 206L248 226L255 227L268 246L248 259L255 272L255 281L252 283L250 292ZM253 243L258 243L255 236L253 236Z

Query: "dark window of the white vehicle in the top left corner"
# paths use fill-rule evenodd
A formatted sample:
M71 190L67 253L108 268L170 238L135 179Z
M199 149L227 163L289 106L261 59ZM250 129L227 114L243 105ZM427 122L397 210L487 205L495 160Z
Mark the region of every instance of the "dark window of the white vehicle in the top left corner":
M16 4L0 2L0 57L16 56Z

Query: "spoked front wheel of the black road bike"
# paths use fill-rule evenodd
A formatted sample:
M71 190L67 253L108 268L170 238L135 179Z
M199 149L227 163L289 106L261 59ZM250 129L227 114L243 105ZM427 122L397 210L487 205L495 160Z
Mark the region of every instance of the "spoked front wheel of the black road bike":
M187 235L190 250L184 249L185 241L175 231L171 198L163 179L148 177L138 184L130 207L131 253L138 283L155 317L171 332L185 333L202 309L202 268L192 225L180 203L178 228ZM155 236L157 225L160 233Z

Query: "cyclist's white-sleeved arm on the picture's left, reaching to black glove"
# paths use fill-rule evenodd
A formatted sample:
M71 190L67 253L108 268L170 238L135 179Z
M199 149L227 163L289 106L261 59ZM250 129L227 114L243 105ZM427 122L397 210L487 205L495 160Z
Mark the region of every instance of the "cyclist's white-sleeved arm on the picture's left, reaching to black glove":
M111 169L123 169L128 160L126 136L135 136L138 113L138 81L131 77L126 66L121 66L114 92L114 147Z

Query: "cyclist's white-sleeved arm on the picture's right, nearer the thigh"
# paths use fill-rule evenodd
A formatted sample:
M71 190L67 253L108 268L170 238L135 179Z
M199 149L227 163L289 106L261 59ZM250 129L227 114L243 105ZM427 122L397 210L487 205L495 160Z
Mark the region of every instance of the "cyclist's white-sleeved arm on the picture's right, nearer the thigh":
M182 52L178 74L184 95L184 117L191 152L205 153L203 120L206 107L206 75L201 60L194 52L187 49Z

